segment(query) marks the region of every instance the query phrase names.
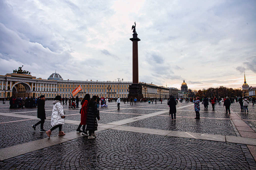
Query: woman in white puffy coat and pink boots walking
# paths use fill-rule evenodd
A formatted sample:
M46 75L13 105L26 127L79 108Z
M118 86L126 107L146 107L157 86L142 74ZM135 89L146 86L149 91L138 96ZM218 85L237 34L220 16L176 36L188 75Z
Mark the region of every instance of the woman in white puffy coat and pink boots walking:
M54 106L51 114L51 126L52 128L46 132L47 136L50 137L52 130L59 128L59 136L65 135L61 130L62 125L64 125L64 111L61 102L61 96L56 96L53 102Z

